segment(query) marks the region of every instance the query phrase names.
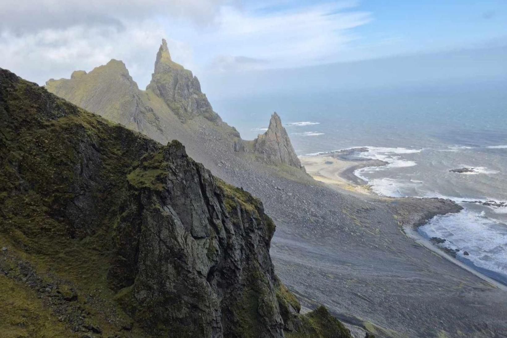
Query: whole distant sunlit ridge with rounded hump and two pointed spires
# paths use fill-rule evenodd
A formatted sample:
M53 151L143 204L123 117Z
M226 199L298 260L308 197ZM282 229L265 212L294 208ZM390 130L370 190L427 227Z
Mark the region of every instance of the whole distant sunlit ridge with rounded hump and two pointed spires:
M137 88L123 62L116 60L88 74L77 71L71 79L49 80L46 87L71 103L159 142L178 139L203 161L219 163L225 160L222 157L239 155L247 161L301 168L279 117L266 137L258 139L256 148L251 141L241 140L239 132L213 111L197 77L171 59L165 40L146 91ZM203 145L208 149L202 149Z

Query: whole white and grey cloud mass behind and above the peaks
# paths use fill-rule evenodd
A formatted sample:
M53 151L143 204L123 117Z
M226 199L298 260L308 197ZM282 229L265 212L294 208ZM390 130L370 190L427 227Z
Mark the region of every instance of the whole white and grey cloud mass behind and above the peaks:
M249 7L248 7L249 6ZM4 0L0 67L43 84L123 60L139 87L161 38L197 75L330 62L370 20L354 3L288 0L240 6L228 0Z

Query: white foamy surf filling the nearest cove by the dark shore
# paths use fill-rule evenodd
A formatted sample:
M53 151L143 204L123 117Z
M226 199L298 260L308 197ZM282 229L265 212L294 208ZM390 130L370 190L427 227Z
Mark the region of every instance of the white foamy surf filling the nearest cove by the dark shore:
M507 225L469 210L432 218L420 230L429 238L446 239L440 246L459 249L458 256L507 275ZM467 251L469 255L464 255Z

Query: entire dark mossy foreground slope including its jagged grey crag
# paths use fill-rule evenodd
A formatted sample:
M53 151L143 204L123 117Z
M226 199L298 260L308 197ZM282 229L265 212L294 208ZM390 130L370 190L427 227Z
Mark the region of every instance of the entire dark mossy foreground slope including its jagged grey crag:
M179 142L0 69L0 146L1 336L349 336L298 314L262 203Z

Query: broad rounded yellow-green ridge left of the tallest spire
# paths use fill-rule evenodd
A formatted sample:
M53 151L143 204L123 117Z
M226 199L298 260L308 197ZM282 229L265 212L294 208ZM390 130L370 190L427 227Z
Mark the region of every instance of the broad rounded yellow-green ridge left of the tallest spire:
M122 61L111 60L90 73L76 71L70 79L49 80L47 89L93 113L138 131L159 128L158 117Z

